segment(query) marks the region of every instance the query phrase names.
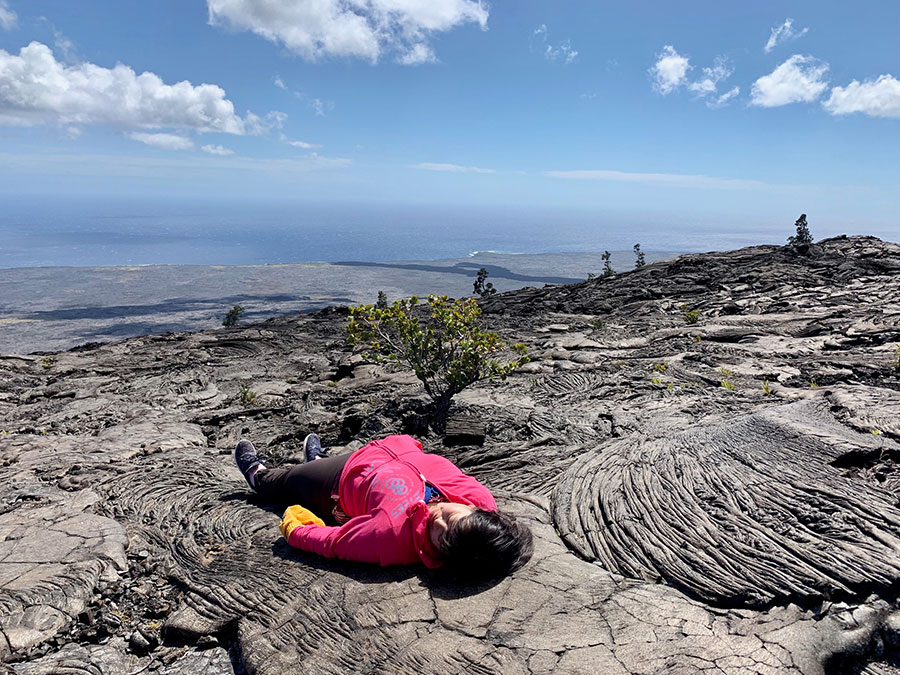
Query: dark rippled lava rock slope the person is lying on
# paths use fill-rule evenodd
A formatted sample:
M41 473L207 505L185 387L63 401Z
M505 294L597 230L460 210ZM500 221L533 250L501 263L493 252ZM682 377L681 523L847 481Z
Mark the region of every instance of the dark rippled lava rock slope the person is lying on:
M533 361L446 437L341 310L0 357L0 672L900 672L900 247L482 305ZM290 549L231 450L290 461L309 431L416 433L532 526L532 562L473 588Z

